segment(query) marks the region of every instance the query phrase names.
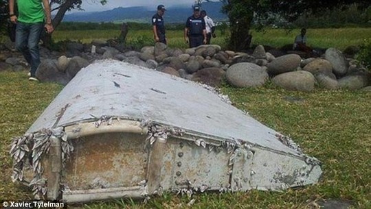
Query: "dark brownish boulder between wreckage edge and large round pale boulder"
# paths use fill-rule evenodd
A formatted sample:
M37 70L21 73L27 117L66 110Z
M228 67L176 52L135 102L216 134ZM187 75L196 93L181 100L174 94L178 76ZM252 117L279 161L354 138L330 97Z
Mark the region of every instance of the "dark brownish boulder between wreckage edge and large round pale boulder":
M195 82L201 82L209 86L218 87L221 86L225 71L220 68L205 68L197 71L193 74L192 80Z

